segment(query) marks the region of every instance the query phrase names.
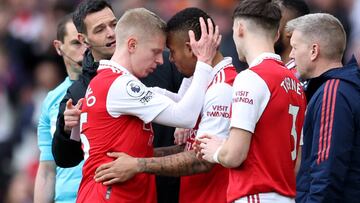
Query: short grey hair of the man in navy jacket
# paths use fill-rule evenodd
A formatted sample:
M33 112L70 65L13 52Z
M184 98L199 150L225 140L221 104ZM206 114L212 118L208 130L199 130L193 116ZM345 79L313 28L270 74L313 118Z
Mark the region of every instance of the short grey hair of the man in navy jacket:
M346 33L340 21L331 14L314 13L289 21L286 31L300 31L309 44L320 45L320 55L341 60L346 48Z

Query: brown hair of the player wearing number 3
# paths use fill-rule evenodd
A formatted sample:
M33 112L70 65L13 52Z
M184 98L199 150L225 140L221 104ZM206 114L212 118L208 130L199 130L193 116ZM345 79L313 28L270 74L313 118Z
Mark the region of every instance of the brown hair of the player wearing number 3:
M243 19L253 33L275 37L279 29L281 10L272 0L243 0L236 7L233 19Z

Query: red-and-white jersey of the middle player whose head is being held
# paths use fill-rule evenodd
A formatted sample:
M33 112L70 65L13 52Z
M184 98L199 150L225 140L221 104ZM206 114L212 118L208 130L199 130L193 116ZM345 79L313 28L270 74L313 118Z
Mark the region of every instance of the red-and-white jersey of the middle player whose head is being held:
M205 94L203 109L196 126L190 131L185 150L191 150L195 137L203 133L226 138L229 134L232 84L237 72L225 58L214 67L213 80ZM211 171L180 179L180 203L226 202L229 169L215 164Z

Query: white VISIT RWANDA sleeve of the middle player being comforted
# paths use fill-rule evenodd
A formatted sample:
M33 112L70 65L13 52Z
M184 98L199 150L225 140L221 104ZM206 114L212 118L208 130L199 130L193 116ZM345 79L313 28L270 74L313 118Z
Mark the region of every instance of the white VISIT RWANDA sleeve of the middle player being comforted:
M229 136L231 100L232 87L227 83L214 84L207 90L197 137L205 133Z

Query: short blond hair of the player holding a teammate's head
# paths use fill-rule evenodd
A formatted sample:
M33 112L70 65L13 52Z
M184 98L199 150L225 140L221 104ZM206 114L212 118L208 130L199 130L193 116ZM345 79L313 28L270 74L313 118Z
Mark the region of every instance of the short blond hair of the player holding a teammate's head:
M156 35L165 36L166 23L155 13L145 8L127 10L119 19L116 28L116 41L121 43L130 36L146 41Z

